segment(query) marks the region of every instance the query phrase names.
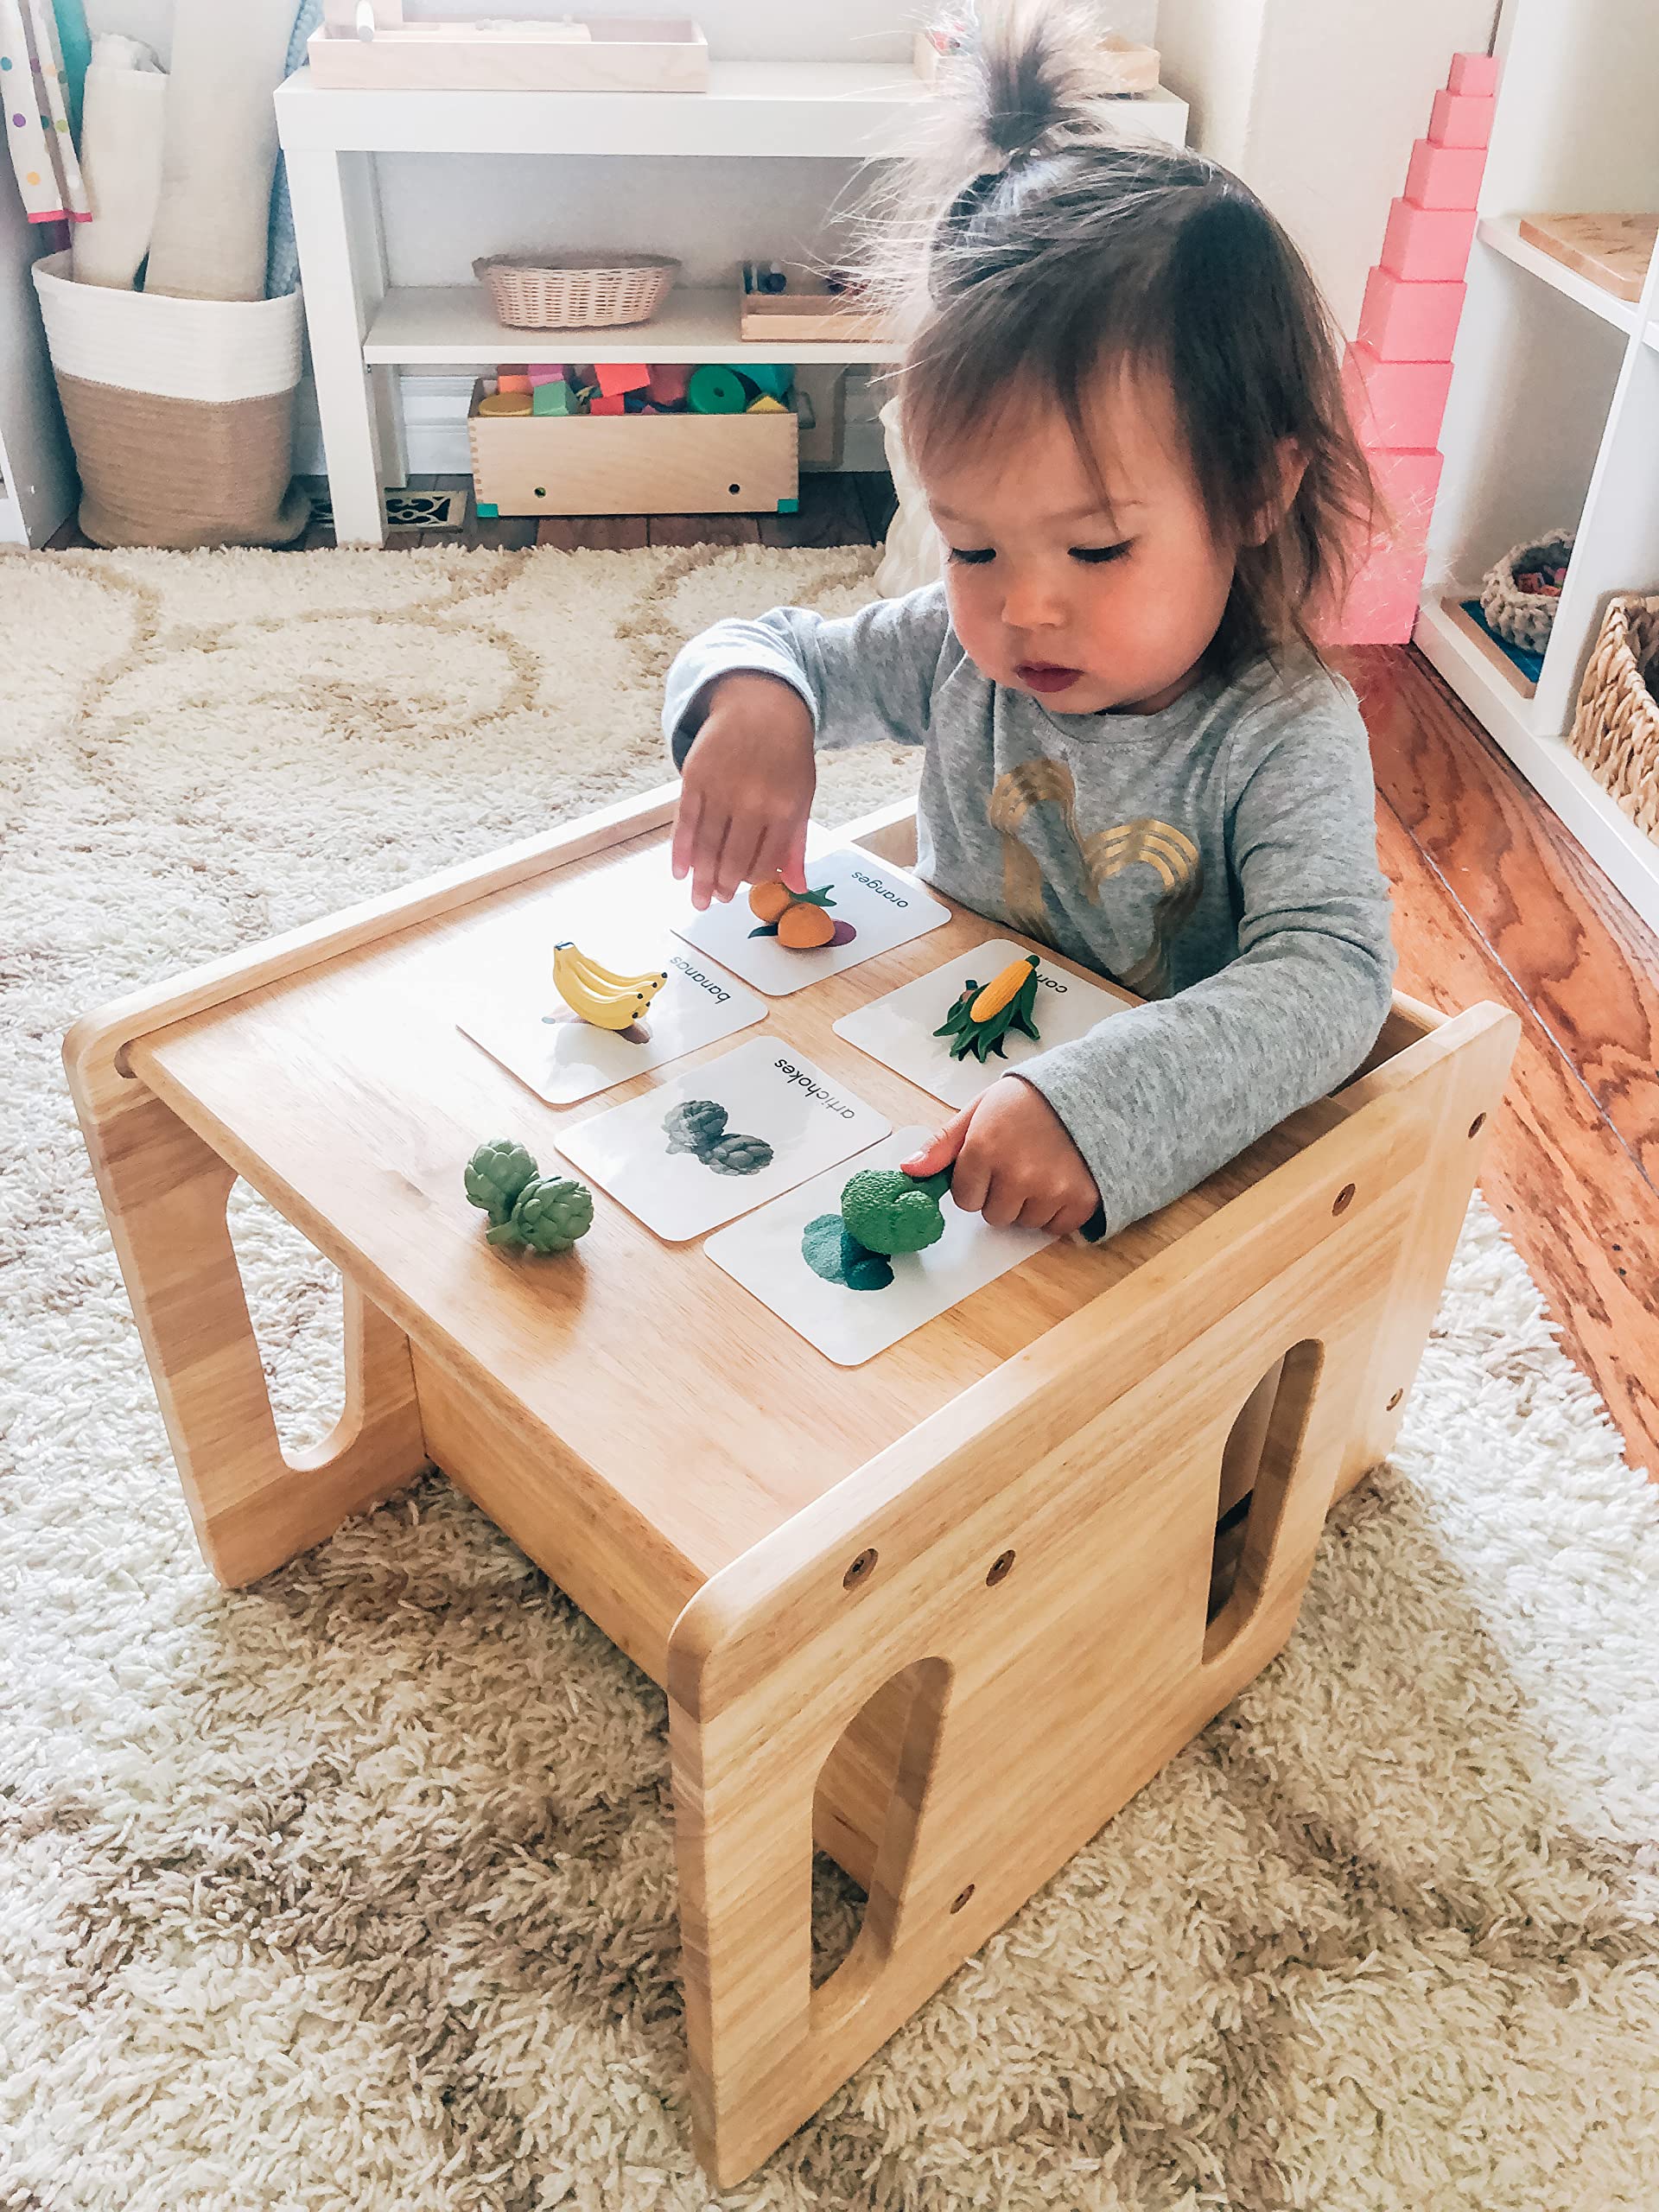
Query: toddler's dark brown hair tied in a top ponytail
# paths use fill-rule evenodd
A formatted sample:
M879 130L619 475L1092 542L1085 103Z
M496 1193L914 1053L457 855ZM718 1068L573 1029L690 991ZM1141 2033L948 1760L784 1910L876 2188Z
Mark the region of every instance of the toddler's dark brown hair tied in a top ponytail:
M925 473L1037 400L1064 409L1099 480L1102 376L1157 374L1210 526L1237 549L1208 659L1232 670L1312 646L1310 608L1336 604L1380 504L1303 257L1217 161L1124 137L1121 104L1099 93L1099 27L1068 0L982 0L942 66L936 144L889 181L872 250L907 336L911 460ZM1252 544L1287 447L1301 484Z

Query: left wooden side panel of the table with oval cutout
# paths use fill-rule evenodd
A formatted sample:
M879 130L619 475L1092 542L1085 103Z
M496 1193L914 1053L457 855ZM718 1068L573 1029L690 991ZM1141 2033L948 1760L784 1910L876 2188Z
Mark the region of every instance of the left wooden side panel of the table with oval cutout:
M409 1340L345 1283L345 1411L283 1455L226 1201L234 1170L142 1084L75 1104L201 1555L257 1582L425 1464Z

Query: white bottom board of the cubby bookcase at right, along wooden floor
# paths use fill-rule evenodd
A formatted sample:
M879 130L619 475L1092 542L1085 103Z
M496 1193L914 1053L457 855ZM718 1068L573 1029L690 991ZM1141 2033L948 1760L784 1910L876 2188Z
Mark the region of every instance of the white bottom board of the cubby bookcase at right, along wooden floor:
M1455 599L1427 599L1413 641L1575 843L1641 920L1659 929L1659 845L1601 790L1557 732L1537 728L1533 688L1520 668L1482 637Z

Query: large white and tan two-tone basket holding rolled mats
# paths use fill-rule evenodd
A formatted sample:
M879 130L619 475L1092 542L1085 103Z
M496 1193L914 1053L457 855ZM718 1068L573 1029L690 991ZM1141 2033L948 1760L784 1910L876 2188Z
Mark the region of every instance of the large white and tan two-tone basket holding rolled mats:
M310 500L292 482L303 305L168 299L35 263L46 345L100 546L276 546Z

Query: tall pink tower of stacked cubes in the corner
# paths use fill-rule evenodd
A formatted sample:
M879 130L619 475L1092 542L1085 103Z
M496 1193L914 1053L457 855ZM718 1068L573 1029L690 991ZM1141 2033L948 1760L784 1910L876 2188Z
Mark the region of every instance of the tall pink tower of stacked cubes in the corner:
M1358 338L1343 356L1349 416L1391 529L1371 538L1338 615L1321 626L1327 646L1400 646L1418 617L1440 487L1440 418L1495 95L1493 55L1453 55L1447 88L1433 95L1429 135L1411 148L1405 192L1389 208Z

